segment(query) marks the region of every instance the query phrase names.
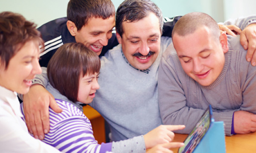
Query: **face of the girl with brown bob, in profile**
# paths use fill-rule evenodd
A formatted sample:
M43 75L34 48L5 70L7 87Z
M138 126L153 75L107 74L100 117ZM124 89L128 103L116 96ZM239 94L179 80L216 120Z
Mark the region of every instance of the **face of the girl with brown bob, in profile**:
M84 104L89 104L95 97L96 90L99 89L98 84L99 73L86 74L79 79L77 100Z

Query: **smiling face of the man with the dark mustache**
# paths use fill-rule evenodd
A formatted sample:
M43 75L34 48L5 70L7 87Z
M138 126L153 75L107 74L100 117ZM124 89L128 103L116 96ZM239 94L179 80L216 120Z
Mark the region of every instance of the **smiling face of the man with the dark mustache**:
M122 37L116 37L122 44L122 51L128 62L137 69L145 70L156 60L160 51L160 24L153 13L141 20L122 23Z

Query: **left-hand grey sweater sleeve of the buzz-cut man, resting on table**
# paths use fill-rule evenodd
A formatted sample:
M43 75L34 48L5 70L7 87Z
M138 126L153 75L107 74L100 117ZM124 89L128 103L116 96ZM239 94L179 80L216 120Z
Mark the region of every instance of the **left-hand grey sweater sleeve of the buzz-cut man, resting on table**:
M168 51L172 52L171 45ZM167 52L166 52L167 53ZM160 116L166 125L185 125L184 130L177 133L189 133L198 121L204 110L189 108L186 104L184 85L180 82L178 72L181 66L175 67L175 58L162 58L158 74L158 101ZM177 59L178 60L178 59ZM183 74L185 76L186 74ZM182 76L182 75L181 75Z

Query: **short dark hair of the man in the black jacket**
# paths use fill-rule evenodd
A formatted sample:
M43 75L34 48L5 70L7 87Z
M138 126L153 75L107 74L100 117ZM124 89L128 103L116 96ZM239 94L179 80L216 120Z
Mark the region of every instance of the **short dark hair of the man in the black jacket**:
M92 17L107 19L115 16L111 0L70 0L67 5L67 20L75 23L80 30Z

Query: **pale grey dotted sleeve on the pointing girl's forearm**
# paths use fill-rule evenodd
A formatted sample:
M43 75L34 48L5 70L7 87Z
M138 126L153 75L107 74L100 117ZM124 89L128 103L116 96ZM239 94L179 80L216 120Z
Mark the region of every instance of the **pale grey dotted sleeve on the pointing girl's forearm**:
M145 153L146 147L143 136L136 136L131 139L112 142L113 153Z

